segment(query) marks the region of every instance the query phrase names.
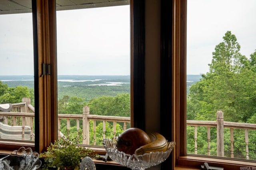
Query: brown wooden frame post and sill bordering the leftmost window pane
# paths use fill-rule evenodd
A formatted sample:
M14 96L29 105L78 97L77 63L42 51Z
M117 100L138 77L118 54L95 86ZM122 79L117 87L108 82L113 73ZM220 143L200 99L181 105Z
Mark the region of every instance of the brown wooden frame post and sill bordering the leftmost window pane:
M57 62L55 0L32 0L34 44L35 141L1 141L2 154L20 147L44 152L57 139ZM42 64L51 65L51 75L42 76Z

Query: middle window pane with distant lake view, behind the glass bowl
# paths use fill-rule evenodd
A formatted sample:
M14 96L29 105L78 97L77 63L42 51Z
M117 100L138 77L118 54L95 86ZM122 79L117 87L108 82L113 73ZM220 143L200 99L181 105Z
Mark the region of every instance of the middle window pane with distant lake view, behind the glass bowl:
M102 145L130 127L130 6L72 9L57 11L58 135Z

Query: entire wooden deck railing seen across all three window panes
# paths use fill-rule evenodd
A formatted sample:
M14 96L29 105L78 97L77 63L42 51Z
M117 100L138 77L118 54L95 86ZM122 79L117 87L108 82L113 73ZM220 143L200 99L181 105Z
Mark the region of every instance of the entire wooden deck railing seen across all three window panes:
M4 117L4 122L7 125L20 125L22 129L24 127L31 127L31 140L34 140L34 107L30 104L29 98L23 98L21 103L12 104L11 112L1 112L0 116ZM256 130L256 124L250 123L236 123L228 122L223 119L223 112L217 112L217 121L196 121L196 120L187 120L187 126L194 127L194 154L197 154L197 127L207 127L207 142L208 142L208 155L210 155L210 128L216 127L217 133L217 156L224 156L224 128L230 129L230 157L234 158L234 129L243 129L244 130L244 139L246 146L246 159L249 159L249 150L248 150L248 130ZM122 122L123 129L127 127L127 123L130 122L130 117L118 117L118 116L102 116L102 115L90 115L90 108L88 106L83 107L82 114L58 114L58 137L61 137L63 134L60 131L60 122L61 120L66 121L67 130L70 130L70 120L76 120L77 134L80 131L80 120L82 120L82 143L84 145L90 144L90 133L93 133L93 144L96 144L96 121L102 121L103 124L103 138L105 138L106 133L106 122L113 123L113 137L116 136L116 123ZM93 122L93 132L90 132L90 120ZM24 135L24 131L22 132Z

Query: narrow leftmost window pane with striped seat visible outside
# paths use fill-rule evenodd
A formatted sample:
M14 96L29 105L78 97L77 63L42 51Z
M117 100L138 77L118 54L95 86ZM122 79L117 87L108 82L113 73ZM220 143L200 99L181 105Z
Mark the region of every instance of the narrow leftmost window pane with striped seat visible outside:
M31 6L31 1L3 2L0 6L0 143L34 141ZM13 112L19 112L18 116Z

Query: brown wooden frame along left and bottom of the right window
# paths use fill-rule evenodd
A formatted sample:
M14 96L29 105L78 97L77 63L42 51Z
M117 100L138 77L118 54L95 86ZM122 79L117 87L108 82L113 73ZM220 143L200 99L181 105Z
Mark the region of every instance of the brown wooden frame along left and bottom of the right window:
M200 169L208 162L210 166L224 169L240 169L255 166L250 160L218 158L186 153L186 10L187 0L173 0L172 21L172 139L176 142L173 150L173 169ZM171 47L169 47L171 48ZM185 167L186 165L186 167Z

